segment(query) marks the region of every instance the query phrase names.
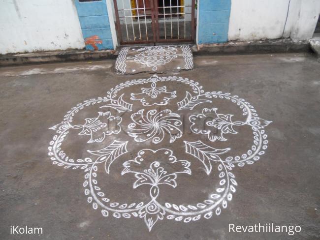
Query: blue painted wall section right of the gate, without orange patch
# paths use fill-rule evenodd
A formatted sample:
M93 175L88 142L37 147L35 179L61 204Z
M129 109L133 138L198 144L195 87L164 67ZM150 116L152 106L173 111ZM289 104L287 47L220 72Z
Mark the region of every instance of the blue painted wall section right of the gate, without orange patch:
M228 41L231 0L200 0L198 44Z

